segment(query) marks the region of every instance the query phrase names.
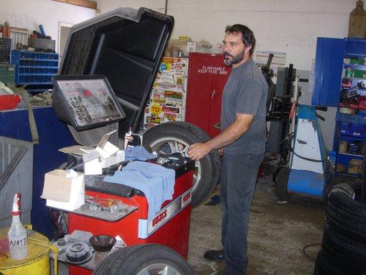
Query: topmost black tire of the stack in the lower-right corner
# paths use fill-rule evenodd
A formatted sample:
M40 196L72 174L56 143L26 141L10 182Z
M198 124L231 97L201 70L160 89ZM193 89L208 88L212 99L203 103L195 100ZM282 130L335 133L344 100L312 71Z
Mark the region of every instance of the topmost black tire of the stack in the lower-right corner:
M327 221L336 232L354 241L366 243L366 204L354 201L343 190L330 192Z

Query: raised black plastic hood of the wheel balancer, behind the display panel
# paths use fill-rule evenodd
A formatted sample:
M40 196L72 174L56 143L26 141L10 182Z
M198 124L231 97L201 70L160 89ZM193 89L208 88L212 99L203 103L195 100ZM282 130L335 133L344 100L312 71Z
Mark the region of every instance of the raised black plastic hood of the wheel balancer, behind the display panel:
M139 8L118 8L71 28L61 75L102 74L126 113L121 133L139 131L173 17Z

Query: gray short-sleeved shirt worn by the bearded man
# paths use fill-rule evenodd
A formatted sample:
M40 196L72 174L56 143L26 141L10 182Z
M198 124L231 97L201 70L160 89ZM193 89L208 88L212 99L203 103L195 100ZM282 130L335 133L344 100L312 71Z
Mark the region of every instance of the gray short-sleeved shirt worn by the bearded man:
M252 58L232 69L221 102L221 130L236 120L237 113L254 115L247 132L224 148L225 153L262 154L266 146L268 85Z

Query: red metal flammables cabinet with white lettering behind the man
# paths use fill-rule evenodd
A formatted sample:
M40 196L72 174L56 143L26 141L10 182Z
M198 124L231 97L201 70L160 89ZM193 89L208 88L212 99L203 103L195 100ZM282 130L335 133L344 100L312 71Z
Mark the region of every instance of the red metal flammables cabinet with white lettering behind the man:
M222 54L190 53L185 121L211 137L220 133L221 97L230 70Z

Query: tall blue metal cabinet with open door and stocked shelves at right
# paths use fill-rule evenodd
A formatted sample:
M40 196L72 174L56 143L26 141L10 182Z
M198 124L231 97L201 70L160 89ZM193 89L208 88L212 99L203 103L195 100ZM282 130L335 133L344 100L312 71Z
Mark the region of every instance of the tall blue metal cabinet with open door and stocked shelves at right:
M342 89L366 81L366 39L319 37L312 104L339 107ZM349 74L347 72L354 72ZM346 84L350 83L349 86ZM339 175L361 177L365 159L366 111L336 113L333 150Z

